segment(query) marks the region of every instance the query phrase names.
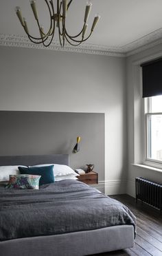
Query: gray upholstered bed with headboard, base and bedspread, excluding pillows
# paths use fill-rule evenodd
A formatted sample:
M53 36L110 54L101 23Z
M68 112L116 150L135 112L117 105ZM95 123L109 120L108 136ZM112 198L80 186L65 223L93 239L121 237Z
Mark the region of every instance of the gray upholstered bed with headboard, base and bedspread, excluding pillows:
M0 157L0 166L45 163L69 165L69 156ZM5 198L7 198L6 202ZM8 203L10 201L12 204ZM17 203L18 201L19 203ZM54 182L54 184L43 185L39 191L34 192L25 190L15 192L14 190L13 193L10 193L10 197L8 191L6 192L6 189L1 186L0 202L1 256L95 255L134 246L135 216L129 209L116 200L106 197L97 189L76 180L62 180ZM14 217L12 216L12 207L14 207ZM42 228L43 225L40 225L40 228L39 225L33 227L32 224L27 224L28 215L26 213L35 211L34 207L36 207L37 213L41 213L43 208L42 217L40 217L41 214L37 215L36 220L39 220L39 223L44 223L45 219L47 222L49 221L48 224L45 224L47 225L45 229ZM29 209L31 210L29 211ZM8 211L8 215L5 210ZM105 211L107 212L105 213ZM5 223L6 216L9 224ZM20 220L19 223L18 220ZM109 222L112 220L113 224L110 224ZM25 225L25 232L21 228L15 237L10 237L10 228L7 229L8 232L3 232L7 225L13 228L13 226L21 226L21 224ZM2 237L2 233L7 234L6 237Z

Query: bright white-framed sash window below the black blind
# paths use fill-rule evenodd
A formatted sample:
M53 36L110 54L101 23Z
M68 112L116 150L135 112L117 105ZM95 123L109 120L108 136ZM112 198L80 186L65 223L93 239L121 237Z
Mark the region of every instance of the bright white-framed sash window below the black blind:
M146 162L162 164L162 96L145 98L145 120Z

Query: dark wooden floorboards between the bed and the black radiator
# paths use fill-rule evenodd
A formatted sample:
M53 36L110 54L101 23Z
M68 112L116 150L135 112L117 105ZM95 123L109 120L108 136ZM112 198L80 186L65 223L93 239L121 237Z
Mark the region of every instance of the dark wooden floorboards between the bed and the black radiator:
M102 253L96 256L110 255L139 255L162 256L162 213L151 206L135 203L135 198L129 195L113 195L114 198L126 206L137 217L137 236L135 246L126 250L111 253Z

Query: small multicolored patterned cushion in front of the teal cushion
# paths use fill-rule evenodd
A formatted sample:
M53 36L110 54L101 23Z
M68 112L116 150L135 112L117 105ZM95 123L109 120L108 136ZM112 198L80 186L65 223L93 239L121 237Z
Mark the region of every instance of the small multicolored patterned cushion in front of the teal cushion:
M8 189L39 189L40 175L10 175Z

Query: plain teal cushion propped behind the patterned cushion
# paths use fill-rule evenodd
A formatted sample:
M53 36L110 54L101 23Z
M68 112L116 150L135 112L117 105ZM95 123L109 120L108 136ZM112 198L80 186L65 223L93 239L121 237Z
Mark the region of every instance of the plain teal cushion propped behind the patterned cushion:
M48 184L54 182L54 165L46 167L18 167L21 174L40 175L39 184Z

